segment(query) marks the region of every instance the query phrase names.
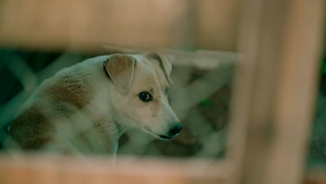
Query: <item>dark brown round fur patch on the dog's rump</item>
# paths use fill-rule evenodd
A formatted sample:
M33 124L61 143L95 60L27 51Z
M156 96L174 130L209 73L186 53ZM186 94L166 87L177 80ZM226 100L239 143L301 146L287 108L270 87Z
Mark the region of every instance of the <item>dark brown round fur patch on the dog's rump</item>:
M37 107L26 109L10 125L10 135L24 149L35 150L51 139L54 126Z

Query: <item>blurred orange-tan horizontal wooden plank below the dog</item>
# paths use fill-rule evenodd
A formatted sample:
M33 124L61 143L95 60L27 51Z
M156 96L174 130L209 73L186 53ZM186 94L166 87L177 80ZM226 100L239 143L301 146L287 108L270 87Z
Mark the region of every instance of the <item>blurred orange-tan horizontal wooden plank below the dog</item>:
M0 183L224 183L228 167L212 160L60 158L0 155Z

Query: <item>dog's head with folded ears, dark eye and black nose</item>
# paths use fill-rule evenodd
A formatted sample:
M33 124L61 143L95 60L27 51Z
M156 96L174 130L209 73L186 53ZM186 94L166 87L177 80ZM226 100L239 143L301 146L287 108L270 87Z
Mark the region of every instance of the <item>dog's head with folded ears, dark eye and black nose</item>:
M112 54L103 62L111 88L114 121L158 139L172 139L183 128L168 102L171 62L159 52Z

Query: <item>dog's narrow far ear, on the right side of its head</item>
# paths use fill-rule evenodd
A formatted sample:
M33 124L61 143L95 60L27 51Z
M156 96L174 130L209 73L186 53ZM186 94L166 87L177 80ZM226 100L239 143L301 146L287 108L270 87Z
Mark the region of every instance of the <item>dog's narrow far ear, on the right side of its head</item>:
M160 62L160 66L162 68L162 70L164 71L164 75L166 77L166 80L172 84L172 80L171 80L171 70L172 70L172 63L171 61L169 61L169 59L167 59L167 57L162 54L161 52L148 52L145 54L146 56L156 59L157 61Z

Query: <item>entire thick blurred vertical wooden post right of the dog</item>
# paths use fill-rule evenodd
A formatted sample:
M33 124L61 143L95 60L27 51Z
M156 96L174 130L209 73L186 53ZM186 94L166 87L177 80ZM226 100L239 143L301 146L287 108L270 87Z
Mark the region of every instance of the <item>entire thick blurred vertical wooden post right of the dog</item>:
M316 96L324 1L242 5L230 183L299 183Z

